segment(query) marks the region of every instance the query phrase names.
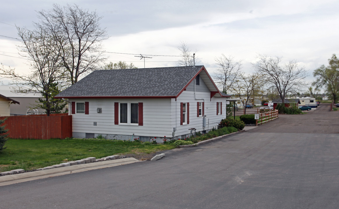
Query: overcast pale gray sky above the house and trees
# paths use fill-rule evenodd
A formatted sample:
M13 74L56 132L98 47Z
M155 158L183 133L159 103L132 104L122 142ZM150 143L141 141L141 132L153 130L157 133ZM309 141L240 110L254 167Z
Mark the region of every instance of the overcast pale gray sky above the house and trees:
M17 0L1 2L0 62L28 73L27 60L15 58L20 42L17 29L33 29L37 12L51 9L53 3L75 3L102 16L106 28L107 52L143 55L180 55L178 46L186 42L196 52L198 65L213 75L215 57L224 54L241 60L243 71L253 72L258 53L282 56L285 62L295 59L312 72L327 65L327 59L339 51L339 1L335 0ZM7 36L7 37L4 37ZM134 55L106 53L108 61L133 62L144 67ZM107 62L108 62L107 61ZM178 57L156 56L145 67L177 66Z

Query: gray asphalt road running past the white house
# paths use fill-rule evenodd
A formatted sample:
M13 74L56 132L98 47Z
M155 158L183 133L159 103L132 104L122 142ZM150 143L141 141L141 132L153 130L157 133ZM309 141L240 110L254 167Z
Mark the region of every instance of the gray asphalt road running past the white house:
M339 111L327 107L158 161L2 186L0 208L337 209Z

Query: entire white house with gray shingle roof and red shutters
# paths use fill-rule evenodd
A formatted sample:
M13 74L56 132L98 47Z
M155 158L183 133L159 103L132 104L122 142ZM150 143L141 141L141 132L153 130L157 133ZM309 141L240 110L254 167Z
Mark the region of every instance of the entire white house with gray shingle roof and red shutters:
M217 128L227 97L204 66L184 66L98 70L55 98L69 100L73 137L162 142Z

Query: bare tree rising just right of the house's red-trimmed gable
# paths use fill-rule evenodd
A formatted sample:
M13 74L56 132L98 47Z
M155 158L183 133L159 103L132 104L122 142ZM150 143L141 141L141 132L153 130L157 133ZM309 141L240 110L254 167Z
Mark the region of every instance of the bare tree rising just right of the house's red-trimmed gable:
M232 89L237 81L238 74L241 73L241 61L234 61L233 57L226 57L224 54L221 54L220 57L215 57L214 60L219 66L214 78L222 88L222 92L227 94L228 89Z

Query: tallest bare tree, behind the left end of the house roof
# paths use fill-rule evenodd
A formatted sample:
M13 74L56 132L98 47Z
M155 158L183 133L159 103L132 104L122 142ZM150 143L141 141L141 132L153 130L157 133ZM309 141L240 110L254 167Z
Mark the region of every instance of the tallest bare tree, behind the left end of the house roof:
M53 4L51 10L38 12L42 28L53 38L54 48L60 51L61 63L65 69L63 79L73 85L81 76L100 69L103 57L101 42L108 38L105 29L100 28L97 13L79 8L78 5L61 7Z

